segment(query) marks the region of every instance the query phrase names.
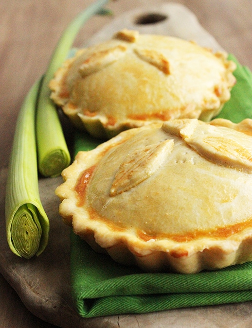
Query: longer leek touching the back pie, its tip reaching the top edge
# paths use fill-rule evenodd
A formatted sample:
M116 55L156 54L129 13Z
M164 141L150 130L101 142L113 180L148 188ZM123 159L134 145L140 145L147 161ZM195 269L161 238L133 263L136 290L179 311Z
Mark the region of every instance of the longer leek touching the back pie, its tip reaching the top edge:
M102 9L107 2L108 0L94 2L72 20L59 39L45 73L38 99L36 119L38 169L44 176L60 175L71 160L55 105L50 99L49 82L54 77L54 72L67 58L82 24L94 14L109 13L108 10Z

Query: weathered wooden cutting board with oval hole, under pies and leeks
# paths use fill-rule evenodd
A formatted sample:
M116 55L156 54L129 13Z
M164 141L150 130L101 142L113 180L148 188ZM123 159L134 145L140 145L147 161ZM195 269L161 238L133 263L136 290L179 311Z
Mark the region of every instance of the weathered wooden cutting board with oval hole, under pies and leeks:
M115 17L102 31L93 35L88 44L108 39L116 31L135 29L141 33L173 35L195 40L212 48L221 47L198 23L187 8L180 4L139 8ZM86 44L87 45L87 44ZM86 46L85 45L85 46ZM252 303L178 309L139 315L118 315L92 319L80 318L75 311L70 287L70 227L63 224L58 214L59 200L54 195L62 178L39 180L41 201L50 219L49 244L42 255L21 259L9 249L5 235L4 190L7 170L0 172L0 272L18 293L29 311L37 317L62 328L156 328L156 327L217 327L215 322L232 322L230 327L245 324L244 312L252 311Z

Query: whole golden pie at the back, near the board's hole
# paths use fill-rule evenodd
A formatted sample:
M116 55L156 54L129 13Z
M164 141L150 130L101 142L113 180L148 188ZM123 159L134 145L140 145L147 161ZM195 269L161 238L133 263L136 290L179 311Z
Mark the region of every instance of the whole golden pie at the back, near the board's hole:
M122 30L55 72L51 98L79 128L111 138L177 118L210 121L230 99L233 61L194 42Z

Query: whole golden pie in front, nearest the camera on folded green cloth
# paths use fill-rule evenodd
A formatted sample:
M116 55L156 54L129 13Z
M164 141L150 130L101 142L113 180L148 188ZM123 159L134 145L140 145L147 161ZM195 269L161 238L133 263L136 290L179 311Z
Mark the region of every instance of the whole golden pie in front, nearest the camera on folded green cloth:
M252 120L166 121L79 152L56 189L66 224L144 271L252 260Z

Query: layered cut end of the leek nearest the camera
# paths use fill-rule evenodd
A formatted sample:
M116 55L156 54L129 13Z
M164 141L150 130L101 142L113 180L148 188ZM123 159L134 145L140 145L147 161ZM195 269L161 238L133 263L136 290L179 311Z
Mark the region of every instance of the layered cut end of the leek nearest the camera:
M25 259L33 257L39 248L42 228L36 207L24 204L18 208L11 224L11 242L16 252Z

